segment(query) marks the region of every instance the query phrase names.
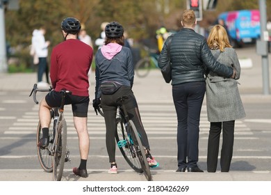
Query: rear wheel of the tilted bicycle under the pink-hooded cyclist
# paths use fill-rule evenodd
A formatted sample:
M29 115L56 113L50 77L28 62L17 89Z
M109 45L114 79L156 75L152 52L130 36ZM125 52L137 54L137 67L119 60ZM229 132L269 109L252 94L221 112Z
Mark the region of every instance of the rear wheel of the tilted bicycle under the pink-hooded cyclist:
M141 139L138 135L138 131L136 130L136 126L133 123L132 120L129 120L129 125L131 128L131 135L132 135L132 140L133 140L133 145L136 146L136 156L139 159L139 162L141 164L142 170L144 172L145 177L147 178L148 181L151 181L151 171L149 170L149 163L147 162L147 158L145 155L145 150L144 147L142 146Z

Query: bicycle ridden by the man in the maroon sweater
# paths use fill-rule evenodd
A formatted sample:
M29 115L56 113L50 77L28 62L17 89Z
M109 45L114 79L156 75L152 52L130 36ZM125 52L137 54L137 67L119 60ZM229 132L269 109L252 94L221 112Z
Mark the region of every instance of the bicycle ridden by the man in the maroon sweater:
M38 88L37 84L34 84L33 89L29 97L33 94L33 100L38 104L36 99L36 93L49 92L52 88ZM51 122L49 125L49 145L45 148L38 146L42 140L42 128L40 121L37 128L37 152L38 159L42 169L47 173L53 172L53 180L60 181L63 175L64 163L69 162L69 149L67 148L67 123L64 118L64 102L67 94L71 94L70 91L63 89L60 91L62 94L62 100L60 107L54 107L51 109Z

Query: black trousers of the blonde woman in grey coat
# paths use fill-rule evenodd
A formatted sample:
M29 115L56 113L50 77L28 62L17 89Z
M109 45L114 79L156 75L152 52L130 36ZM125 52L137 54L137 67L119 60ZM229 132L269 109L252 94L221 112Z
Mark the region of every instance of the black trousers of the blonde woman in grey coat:
M207 153L207 171L215 172L217 169L217 157L220 147L220 133L222 134L222 149L220 155L220 166L222 172L228 172L231 165L233 155L233 139L234 139L234 123L235 120L211 123L208 137L208 153Z

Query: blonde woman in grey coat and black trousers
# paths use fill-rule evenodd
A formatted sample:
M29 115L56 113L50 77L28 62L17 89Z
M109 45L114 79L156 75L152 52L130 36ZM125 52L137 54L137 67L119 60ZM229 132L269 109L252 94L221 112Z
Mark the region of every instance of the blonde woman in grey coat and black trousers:
M234 79L220 77L209 72L206 77L206 104L208 121L211 122L208 137L207 171L215 172L220 145L220 133L223 131L220 166L222 172L228 172L233 155L234 123L245 117L245 110L238 91L240 64L235 49L231 48L227 31L221 25L215 25L207 40L208 46L217 61L236 70Z

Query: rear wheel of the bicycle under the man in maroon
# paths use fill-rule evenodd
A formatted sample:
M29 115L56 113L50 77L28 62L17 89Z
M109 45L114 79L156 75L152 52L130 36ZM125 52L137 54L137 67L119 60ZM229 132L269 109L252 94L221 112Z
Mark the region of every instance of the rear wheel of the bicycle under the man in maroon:
M61 120L56 133L56 148L54 153L53 180L60 181L63 175L65 157L67 152L67 123Z

